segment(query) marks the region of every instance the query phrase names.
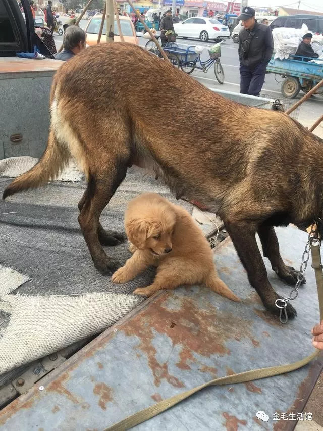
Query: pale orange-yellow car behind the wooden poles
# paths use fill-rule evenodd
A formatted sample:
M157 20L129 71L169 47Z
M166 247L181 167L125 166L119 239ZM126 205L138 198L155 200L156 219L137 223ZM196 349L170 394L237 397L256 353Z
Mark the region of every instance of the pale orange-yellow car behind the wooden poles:
M131 19L129 17L124 17L121 15L119 16L119 19L120 19L121 31L124 36L125 42L139 45L139 39L137 37L137 33ZM85 33L86 33L86 43L88 46L96 45L101 21L102 21L102 15L94 15L94 17L91 18L90 22L86 26ZM106 33L106 20L104 20L104 26L103 26L100 43L106 42L105 33ZM115 42L120 42L121 40L119 36L116 17L115 17L114 33L115 33Z

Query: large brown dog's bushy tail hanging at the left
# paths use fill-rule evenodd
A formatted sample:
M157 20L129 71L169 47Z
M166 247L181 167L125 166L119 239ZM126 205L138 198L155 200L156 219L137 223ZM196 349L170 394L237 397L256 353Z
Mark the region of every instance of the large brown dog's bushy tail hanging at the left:
M38 163L29 171L16 178L5 189L2 198L14 195L19 191L37 188L45 185L55 177L68 164L70 151L65 143L58 141L53 131L49 132L47 148Z

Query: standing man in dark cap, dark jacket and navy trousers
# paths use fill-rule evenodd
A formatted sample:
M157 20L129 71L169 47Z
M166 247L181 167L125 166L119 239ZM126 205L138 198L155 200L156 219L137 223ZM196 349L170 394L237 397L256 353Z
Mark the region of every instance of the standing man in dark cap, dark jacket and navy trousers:
M239 33L240 93L258 96L260 94L266 67L269 63L274 42L271 28L255 20L255 10L249 6L242 9L243 29Z

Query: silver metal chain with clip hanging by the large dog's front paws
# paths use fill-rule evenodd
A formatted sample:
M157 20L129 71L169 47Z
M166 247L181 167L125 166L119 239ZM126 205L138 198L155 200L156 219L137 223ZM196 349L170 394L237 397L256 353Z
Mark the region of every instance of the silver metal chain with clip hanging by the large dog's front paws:
M319 247L321 246L321 240L318 238L318 223L312 224L311 231L308 234L308 240L307 240L307 243L305 246L304 253L302 255L302 263L301 263L299 272L297 274L297 281L296 281L294 289L292 289L290 291L290 294L287 298L282 298L282 299L279 298L275 301L276 307L280 309L279 320L282 323L287 323L287 321L288 321L287 310L286 310L287 303L289 301L297 298L299 286L302 284L302 282L305 278L305 271L307 268L307 262L308 262L309 256L310 256L310 249L311 249L312 243L314 243L314 242L318 242L318 246ZM283 317L283 313L284 313L284 317Z

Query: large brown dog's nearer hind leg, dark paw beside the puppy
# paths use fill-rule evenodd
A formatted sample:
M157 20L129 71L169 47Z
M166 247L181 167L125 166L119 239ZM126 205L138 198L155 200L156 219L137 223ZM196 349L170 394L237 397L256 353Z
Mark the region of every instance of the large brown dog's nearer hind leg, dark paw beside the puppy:
M105 160L100 160L100 166L104 166L104 169L89 166L88 188L78 221L94 266L103 275L113 274L121 265L115 259L107 256L99 243L99 218L124 180L127 165L126 157L113 160L110 154L106 155Z

